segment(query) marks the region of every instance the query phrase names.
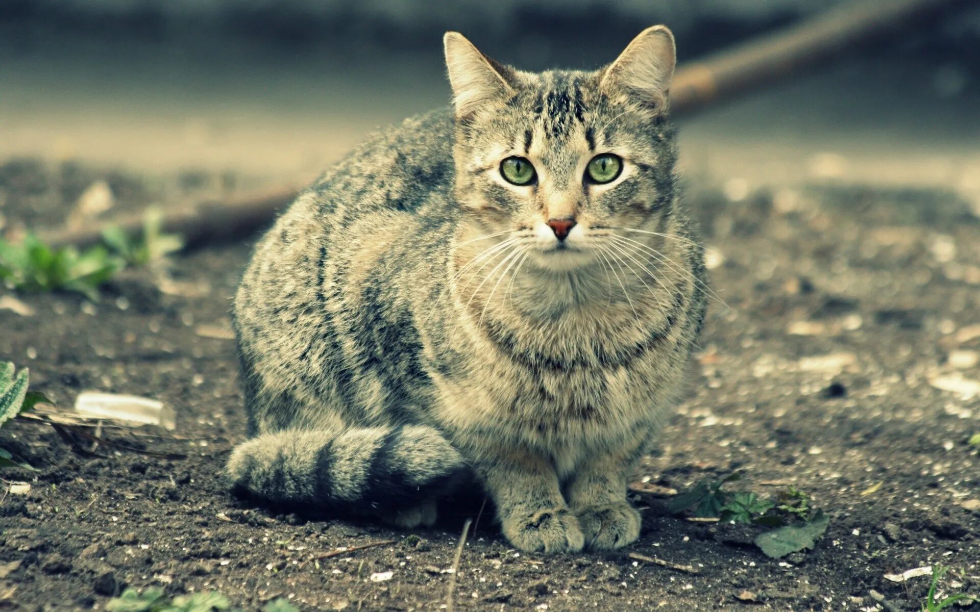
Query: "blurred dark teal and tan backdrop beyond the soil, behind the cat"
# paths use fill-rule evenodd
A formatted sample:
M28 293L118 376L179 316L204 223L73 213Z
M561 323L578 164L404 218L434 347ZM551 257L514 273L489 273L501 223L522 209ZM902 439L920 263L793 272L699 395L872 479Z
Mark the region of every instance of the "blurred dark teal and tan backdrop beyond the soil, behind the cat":
M649 24L691 61L831 0L0 0L0 159L302 183L379 126L445 105L441 34L522 69L592 69ZM681 121L683 167L980 193L980 10Z

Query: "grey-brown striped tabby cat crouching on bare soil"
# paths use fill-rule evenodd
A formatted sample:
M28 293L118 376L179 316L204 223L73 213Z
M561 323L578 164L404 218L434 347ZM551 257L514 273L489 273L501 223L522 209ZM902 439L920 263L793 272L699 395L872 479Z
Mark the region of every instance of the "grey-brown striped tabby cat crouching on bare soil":
M599 71L444 44L451 107L327 169L257 245L233 312L250 439L227 476L405 528L478 487L521 550L626 545L627 482L707 304L673 35Z

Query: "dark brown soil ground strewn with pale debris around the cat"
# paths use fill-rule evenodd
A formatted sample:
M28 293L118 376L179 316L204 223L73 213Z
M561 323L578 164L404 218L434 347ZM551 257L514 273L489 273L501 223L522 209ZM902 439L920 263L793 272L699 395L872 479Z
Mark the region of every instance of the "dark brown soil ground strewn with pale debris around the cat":
M0 216L8 229L54 226L98 178L117 209L234 183L10 162ZM516 552L484 515L462 555L457 609L879 610L875 590L888 609L917 611L929 579L885 575L932 564L951 568L945 592L980 593L980 459L968 444L980 432L977 211L933 191L690 192L725 304L712 304L690 397L637 479L684 490L741 470L737 489L793 484L829 514L827 534L776 561L752 544L758 528L689 522L664 497L636 494L635 544L544 556ZM5 427L0 445L38 471L0 474L31 485L0 493L0 609L105 609L127 586L219 590L246 610L277 596L303 610L445 607L463 510L407 533L254 507L223 489L221 466L245 433L227 312L253 241L178 257L167 283L126 272L98 304L19 295L34 315L0 309L0 357L28 366L33 388L65 408L86 389L165 400L173 434L103 434L187 455L85 457L50 428Z

